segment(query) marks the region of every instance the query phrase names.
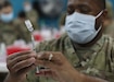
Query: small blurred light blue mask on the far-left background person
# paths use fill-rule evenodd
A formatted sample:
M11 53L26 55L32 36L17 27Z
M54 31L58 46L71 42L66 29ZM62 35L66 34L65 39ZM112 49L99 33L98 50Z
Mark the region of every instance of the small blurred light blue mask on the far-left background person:
M13 20L13 13L3 14L1 13L1 21L4 23L10 23Z

